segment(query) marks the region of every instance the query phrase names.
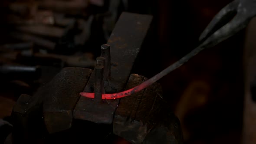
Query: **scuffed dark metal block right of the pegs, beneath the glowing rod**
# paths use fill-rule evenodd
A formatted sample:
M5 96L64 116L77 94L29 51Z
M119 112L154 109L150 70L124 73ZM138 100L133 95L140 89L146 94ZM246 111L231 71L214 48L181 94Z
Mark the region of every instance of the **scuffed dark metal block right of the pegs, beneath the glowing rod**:
M146 78L131 74L126 89L133 88ZM154 83L141 92L121 98L113 120L114 134L141 144L148 132L161 121L164 100L161 85Z

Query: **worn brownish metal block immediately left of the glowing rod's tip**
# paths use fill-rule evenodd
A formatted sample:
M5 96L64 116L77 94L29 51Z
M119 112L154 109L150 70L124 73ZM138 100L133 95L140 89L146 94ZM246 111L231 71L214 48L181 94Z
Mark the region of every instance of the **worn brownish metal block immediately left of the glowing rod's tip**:
M45 97L43 118L49 133L71 128L72 111L91 73L91 69L67 67L49 83L48 95L41 95Z

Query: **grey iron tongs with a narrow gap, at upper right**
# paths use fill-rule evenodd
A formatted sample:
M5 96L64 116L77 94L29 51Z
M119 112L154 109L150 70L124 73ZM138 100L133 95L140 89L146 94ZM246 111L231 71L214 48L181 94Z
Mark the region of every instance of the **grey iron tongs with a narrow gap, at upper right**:
M232 1L220 10L206 29L204 29L199 38L203 42L201 46L215 46L230 36L233 36L245 28L254 16L256 16L256 0ZM228 19L231 20L220 27L220 29L217 29L218 26Z

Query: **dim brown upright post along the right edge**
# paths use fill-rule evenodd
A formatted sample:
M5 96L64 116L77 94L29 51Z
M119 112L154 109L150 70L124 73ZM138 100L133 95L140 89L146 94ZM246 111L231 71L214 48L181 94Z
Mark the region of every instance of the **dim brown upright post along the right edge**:
M256 144L256 18L251 20L247 27L245 52L244 52L244 76L245 99L243 114L243 144Z

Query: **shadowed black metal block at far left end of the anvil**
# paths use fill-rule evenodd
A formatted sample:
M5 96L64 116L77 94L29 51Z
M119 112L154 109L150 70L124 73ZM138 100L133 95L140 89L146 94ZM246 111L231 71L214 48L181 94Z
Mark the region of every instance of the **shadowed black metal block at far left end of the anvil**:
M33 95L20 95L13 106L13 144L34 144L44 133L43 98L49 84L42 85Z

